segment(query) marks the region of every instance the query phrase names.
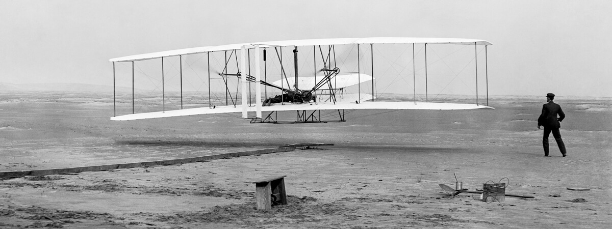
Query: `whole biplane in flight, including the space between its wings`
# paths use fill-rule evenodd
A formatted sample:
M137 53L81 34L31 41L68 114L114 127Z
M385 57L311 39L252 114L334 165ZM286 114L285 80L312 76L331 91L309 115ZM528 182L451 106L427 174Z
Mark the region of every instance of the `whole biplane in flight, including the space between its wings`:
M111 120L234 114L251 123L324 123L344 122L349 111L360 109L493 109L488 106L488 45L486 40L465 38L329 38L118 57L109 60L113 62L114 89ZM443 53L441 46L457 48ZM461 64L444 60L457 53L463 53ZM123 69L121 77L116 64ZM155 76L143 70L147 66L152 66L147 71L155 71ZM455 70L444 73L435 67ZM148 81L160 92L160 100L154 100L161 104L155 107L159 110L139 107L136 111L136 104L141 103L136 102L136 71L138 77L147 78L142 82ZM120 115L118 78L124 85L131 79L132 89L120 103ZM466 89L454 89L455 85ZM173 90L166 90L169 87ZM187 87L192 89L189 93L184 92ZM394 93L412 98L398 100ZM461 98L468 103L441 101L447 93L464 95ZM187 94L191 97L185 103Z

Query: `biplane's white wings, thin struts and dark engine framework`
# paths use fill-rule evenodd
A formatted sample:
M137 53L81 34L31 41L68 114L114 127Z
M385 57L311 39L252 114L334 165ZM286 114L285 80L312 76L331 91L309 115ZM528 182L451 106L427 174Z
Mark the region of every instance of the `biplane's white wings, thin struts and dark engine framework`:
M414 103L406 102L390 102L390 101L376 101L375 95L375 78L374 78L374 54L373 45L388 44L388 43L400 43L400 44L412 44L412 54L414 65L414 46L415 44L425 45L425 103L416 101L416 89L415 89L415 101ZM476 47L479 45L485 46L485 75L487 77L487 106L479 104L478 95L478 66L476 60L476 104L456 104L456 103L430 103L427 101L427 45L428 44L449 44L449 45L474 45L475 56L477 58ZM340 75L341 70L337 66L335 60L335 46L336 45L356 45L357 47L357 73L348 73ZM370 60L371 60L371 75L367 75L360 70L361 60L360 47L370 46ZM201 115L201 114L225 114L233 112L241 112L242 118L249 119L250 123L326 123L326 122L345 122L345 110L353 109L430 109L430 110L455 110L455 109L493 109L488 106L488 67L486 65L487 46L491 43L486 40L475 40L475 39L463 39L463 38L411 38L411 37L370 37L370 38L332 38L332 39L311 39L311 40L288 40L288 41L277 41L277 42L257 42L257 43L241 43L233 45L221 45L221 46L204 46L190 49L177 49L172 51L164 51L159 53L148 53L140 54L127 57L118 57L110 59L109 62L113 62L113 107L114 116L111 120L137 120L144 118L161 118L161 117L176 117L184 115ZM324 49L323 47L326 47ZM282 48L289 47L293 48L294 53L294 78L289 78L283 64L282 59ZM313 76L299 76L298 71L298 52L302 49L312 47L313 49L313 65L315 65L316 72ZM263 52L261 51L263 49ZM273 54L276 54L278 63L280 63L280 81L267 82L261 79L261 59L263 57L264 66L266 66L267 50L274 50ZM317 49L318 54L317 55ZM324 51L325 50L325 51ZM227 56L228 51L230 57ZM251 73L251 51L254 52L254 67L255 73ZM279 54L279 51L281 54ZM217 52L225 52L224 62L225 67L219 73L225 83L226 93L226 104L225 106L216 106L212 104L211 100L211 70L210 70L210 54ZM183 92L182 92L182 56L191 54L206 54L208 64L208 83L209 85L209 107L198 107L198 108L183 108ZM238 55L239 54L239 55ZM179 56L181 61L181 109L166 111L165 101L165 83L164 83L164 58ZM238 58L239 56L239 58ZM238 68L237 73L228 73L228 63L231 59L236 59L236 65ZM316 67L317 59L320 58L323 66ZM135 99L134 99L134 62L140 60L149 59L161 59L162 60L162 111L161 112L135 112ZM238 60L239 59L239 60ZM116 115L116 62L131 62L132 64L132 114L127 115ZM414 66L413 66L414 71ZM242 73L246 71L248 73ZM323 73L323 76L321 76ZM264 72L264 74L266 74ZM236 77L240 82L241 89L241 103L238 103L237 92L236 98L231 95L228 81L231 77ZM414 72L413 72L414 77ZM342 82L338 84L338 79ZM362 93L361 84L371 81L371 95ZM278 83L280 82L280 85ZM255 104L252 103L252 98L248 98L247 95L251 96L252 92L250 83L255 83ZM274 100L275 103L265 103L261 98L261 85L267 88L274 88L281 90L280 102ZM300 86L301 85L301 86ZM351 85L359 85L357 95L345 95L343 89L350 87ZM236 85L238 86L238 85ZM369 86L369 85L368 85ZM415 84L416 87L416 84ZM247 88L249 92L247 92ZM338 96L348 96L348 99L341 99ZM231 104L229 103L231 98ZM234 100L235 99L235 100ZM321 101L323 99L323 101ZM266 101L272 101L272 98L267 98ZM266 106L267 105L267 106ZM273 106L271 106L273 105ZM321 111L335 110L337 115L334 119L326 119L321 117ZM295 120L279 120L278 113L285 111L296 111ZM263 115L262 112L269 112L267 115ZM317 114L318 112L318 114ZM255 114L252 114L255 113ZM251 115L250 115L251 114Z

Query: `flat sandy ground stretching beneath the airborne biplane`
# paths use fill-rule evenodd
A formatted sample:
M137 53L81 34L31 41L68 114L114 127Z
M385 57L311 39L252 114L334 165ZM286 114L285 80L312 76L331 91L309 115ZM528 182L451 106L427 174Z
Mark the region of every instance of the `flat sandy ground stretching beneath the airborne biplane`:
M111 122L105 95L2 94L0 172L335 145L3 179L0 228L607 228L612 101L557 102L568 116L567 158L552 138L552 157L543 157L535 120L545 100L535 97L496 98L490 111L353 112L342 123L253 125L228 115ZM438 184L454 187L453 173L470 190L503 179L507 193L535 198L450 197ZM274 175L286 175L288 205L257 211L250 181Z

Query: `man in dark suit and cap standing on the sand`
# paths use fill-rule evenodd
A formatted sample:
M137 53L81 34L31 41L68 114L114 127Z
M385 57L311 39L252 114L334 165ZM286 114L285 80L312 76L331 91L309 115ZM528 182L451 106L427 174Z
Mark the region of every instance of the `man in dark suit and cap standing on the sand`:
M554 103L553 100L553 93L546 94L546 101L548 103L544 104L542 107L542 114L537 119L537 128L540 129L540 126L544 126L544 138L542 139L544 156L548 156L548 136L550 136L551 132L553 133L554 140L556 140L557 145L559 146L561 154L563 154L563 156L567 156L565 144L563 144L563 139L561 139L561 133L559 132L559 128L561 128L561 124L559 122L563 121L565 114L563 113L561 106ZM559 117L557 117L557 115L559 115Z

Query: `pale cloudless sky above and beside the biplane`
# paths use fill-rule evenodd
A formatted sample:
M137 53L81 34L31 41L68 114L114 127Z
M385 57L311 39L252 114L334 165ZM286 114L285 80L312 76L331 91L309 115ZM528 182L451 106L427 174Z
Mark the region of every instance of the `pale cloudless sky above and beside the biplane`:
M272 40L450 37L490 95L612 96L612 1L0 0L0 83L113 85L108 59Z

